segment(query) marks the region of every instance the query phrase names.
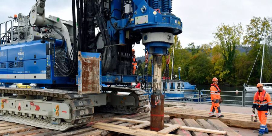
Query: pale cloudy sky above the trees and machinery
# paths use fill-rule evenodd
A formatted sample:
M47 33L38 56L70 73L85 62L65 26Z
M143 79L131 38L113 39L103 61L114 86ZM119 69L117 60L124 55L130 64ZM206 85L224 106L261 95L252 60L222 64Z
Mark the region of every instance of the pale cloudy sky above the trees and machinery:
M7 18L10 15L28 15L34 3L35 0L1 0L0 22L10 20ZM192 42L196 46L212 42L212 33L222 23L241 23L245 30L253 16L272 17L271 7L272 0L173 0L173 14L183 22L183 33L178 35L183 48ZM70 0L47 0L45 11L46 17L72 20ZM137 44L134 49L136 57L144 55L144 45Z

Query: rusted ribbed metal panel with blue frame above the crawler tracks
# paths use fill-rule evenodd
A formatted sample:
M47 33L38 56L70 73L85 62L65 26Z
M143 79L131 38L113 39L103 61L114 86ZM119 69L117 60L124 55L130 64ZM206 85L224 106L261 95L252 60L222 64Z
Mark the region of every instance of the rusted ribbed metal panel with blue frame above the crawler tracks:
M78 53L78 93L101 92L101 54Z

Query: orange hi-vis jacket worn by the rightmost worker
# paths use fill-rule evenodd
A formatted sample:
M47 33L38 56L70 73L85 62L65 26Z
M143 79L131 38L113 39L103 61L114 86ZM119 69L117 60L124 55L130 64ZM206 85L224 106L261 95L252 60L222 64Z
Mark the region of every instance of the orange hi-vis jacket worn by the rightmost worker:
M262 92L257 91L254 94L252 108L256 108L258 111L268 111L268 109L272 109L272 102L269 93L267 93L265 90Z

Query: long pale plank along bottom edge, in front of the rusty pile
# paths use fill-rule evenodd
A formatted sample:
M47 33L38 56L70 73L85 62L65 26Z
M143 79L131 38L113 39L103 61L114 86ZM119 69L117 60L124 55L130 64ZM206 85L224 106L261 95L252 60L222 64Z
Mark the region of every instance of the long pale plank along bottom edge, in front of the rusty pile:
M157 134L156 131L150 131L150 130L144 130L144 129L132 130L125 126L100 123L100 122L96 123L95 125L92 125L92 127L104 129L108 131L114 131L118 133L123 133L123 134L131 134L135 136L147 136L147 135L148 136L176 136L174 134Z

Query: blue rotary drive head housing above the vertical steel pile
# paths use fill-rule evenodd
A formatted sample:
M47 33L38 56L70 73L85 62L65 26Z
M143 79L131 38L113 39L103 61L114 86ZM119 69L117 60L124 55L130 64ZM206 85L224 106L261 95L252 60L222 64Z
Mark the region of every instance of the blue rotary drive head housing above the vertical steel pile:
M143 33L169 32L174 35L182 33L182 22L180 18L171 13L172 0L133 0L131 2L133 15L130 20L128 16L122 19L121 0L113 0L111 3L112 14L110 20L113 24L117 24L118 28L125 29L116 30L112 27L110 21L108 21L108 32L112 38L111 40L119 40L120 44L125 44L127 30L141 31ZM137 19L144 21L138 23L136 22ZM129 23L127 27L125 27L128 21ZM118 32L119 35L117 36L116 34L118 34ZM119 39L117 39L118 37Z

